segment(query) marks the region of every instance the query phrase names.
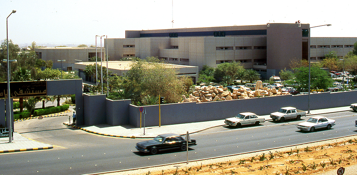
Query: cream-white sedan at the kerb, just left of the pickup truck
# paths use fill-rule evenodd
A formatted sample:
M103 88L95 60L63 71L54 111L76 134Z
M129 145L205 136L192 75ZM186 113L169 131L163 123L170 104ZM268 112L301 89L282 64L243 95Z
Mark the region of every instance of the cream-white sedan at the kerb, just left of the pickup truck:
M248 124L257 125L259 123L264 123L265 118L257 116L255 113L252 112L242 112L235 117L226 118L224 122L229 126L240 127L242 125L248 125Z

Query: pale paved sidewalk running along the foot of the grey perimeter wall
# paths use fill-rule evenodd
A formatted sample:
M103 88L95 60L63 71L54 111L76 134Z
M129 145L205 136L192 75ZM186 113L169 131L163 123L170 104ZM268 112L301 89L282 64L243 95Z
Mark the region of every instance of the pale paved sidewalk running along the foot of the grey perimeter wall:
M311 115L323 115L326 113L332 113L336 111L350 111L350 106L346 107L337 107L330 109L321 109L321 110L310 110ZM262 116L266 121L271 120L270 115ZM63 123L67 126L71 126L68 123ZM216 121L207 121L207 122L196 122L196 123L183 123L183 124L172 124L166 126L154 126L154 127L144 127L142 128L133 128L132 126L110 126L108 124L98 124L95 126L75 126L75 128L81 129L83 131L99 134L102 136L111 136L111 137L122 137L122 138L154 138L162 133L175 133L180 135L185 135L186 132L192 134L196 132L203 131L208 128L224 126L224 120Z

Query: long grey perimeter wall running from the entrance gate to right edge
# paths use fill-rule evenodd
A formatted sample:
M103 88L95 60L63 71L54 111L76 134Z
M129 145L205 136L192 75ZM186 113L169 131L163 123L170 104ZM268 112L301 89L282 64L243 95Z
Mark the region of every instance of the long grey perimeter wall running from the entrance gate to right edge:
M88 97L85 95L86 125L130 124L140 127L140 106L130 104L130 100L105 100L105 95ZM96 95L98 96L98 95ZM282 95L251 99L186 102L161 105L161 125L222 120L236 116L240 112L253 112L257 115L268 115L281 107L293 106L308 110L308 95ZM357 91L323 92L311 94L310 110L349 106L357 102ZM102 104L100 104L102 103ZM145 107L145 126L159 126L159 105ZM103 118L105 116L105 118ZM127 118L126 118L127 117ZM144 126L144 113L141 113L141 124Z

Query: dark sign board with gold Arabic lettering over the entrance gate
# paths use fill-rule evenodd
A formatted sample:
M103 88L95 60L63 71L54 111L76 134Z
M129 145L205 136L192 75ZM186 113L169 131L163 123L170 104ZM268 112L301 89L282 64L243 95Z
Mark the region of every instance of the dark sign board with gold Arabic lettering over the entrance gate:
M11 98L45 96L46 81L12 81L10 82ZM0 98L7 98L7 83L0 83Z

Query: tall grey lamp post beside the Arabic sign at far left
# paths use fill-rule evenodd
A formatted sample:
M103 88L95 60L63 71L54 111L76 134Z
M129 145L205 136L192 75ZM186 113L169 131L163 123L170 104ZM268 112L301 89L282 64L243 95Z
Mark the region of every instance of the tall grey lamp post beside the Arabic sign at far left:
M15 13L16 10L12 10L11 14ZM11 15L10 14L10 15ZM7 16L7 18L10 17ZM9 122L9 143L12 142L12 120L11 120L11 100L10 100L10 59L9 59L9 36L7 32L7 18L6 18L6 50L7 50L7 105L6 105L6 117L7 122Z

